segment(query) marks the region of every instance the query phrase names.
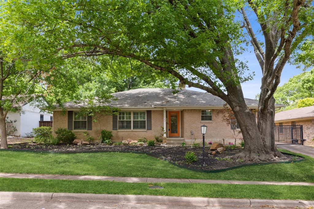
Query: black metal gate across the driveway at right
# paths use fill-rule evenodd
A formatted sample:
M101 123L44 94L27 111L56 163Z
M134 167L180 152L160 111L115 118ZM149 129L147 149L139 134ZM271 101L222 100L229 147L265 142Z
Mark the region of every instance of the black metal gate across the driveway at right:
M303 126L275 126L275 144L302 144Z

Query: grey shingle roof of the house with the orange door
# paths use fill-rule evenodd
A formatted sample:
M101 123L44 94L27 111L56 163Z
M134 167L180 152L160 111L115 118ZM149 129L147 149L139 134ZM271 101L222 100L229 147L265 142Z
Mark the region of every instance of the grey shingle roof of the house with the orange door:
M112 101L112 107L151 107L154 106L223 106L226 102L213 94L180 89L173 94L171 88L138 88L112 94L118 100ZM257 106L258 100L245 99L246 105ZM64 108L80 108L83 104L66 102ZM58 105L56 105L58 107Z

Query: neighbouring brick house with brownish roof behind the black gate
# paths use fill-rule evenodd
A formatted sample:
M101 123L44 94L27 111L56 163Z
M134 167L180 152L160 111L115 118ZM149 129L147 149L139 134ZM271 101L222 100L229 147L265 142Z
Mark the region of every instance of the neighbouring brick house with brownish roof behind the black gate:
M314 145L314 106L285 110L275 114L277 126L302 125L305 145Z

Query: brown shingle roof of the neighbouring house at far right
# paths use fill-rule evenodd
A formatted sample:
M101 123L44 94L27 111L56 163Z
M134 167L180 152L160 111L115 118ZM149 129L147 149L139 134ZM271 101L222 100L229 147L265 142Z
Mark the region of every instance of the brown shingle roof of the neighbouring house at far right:
M314 117L314 106L285 110L275 114L275 121Z

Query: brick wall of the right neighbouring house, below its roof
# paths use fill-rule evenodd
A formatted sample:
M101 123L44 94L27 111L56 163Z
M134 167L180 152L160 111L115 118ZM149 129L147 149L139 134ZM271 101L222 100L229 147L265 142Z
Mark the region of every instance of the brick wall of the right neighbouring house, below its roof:
M291 125L292 121L283 122L282 125L287 126ZM303 121L295 121L295 125L302 125L303 126L303 138L306 139L304 145L314 146L314 120L303 120ZM279 123L276 123L279 126Z

